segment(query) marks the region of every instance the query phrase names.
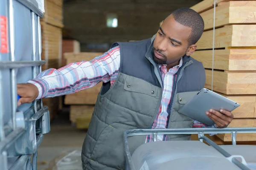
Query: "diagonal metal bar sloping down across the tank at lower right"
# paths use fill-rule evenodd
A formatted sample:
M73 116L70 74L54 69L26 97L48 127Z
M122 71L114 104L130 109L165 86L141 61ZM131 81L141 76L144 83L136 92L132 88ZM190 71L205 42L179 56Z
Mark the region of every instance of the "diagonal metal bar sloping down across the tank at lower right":
M201 136L200 139L204 139L205 142L207 142L212 147L214 147L214 149L218 150L218 152L221 153L223 156L225 156L225 157L230 157L231 156L230 153L228 153L226 150L219 147L218 144L215 144L209 138L207 138L205 136ZM232 159L232 162L234 164L236 164L236 166L238 166L241 170L250 170L247 166L245 166L244 164L239 162L237 159Z

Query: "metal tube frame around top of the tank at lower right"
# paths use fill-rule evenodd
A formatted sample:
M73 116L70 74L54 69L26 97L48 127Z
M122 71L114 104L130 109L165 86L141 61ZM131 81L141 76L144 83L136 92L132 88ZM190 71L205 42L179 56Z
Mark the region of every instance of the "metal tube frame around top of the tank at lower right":
M152 135L153 142L157 141L157 135L177 135L177 134L198 134L198 140L201 142L207 142L209 145L214 147L225 156L227 159L232 161L241 170L250 170L247 166L238 161L230 153L227 153L224 149L219 147L215 142L204 136L204 134L221 134L221 133L231 133L232 145L236 145L236 134L237 133L256 133L256 127L236 127L236 128L184 128L184 129L134 129L126 130L123 133L124 146L125 146L125 169L126 170L136 170L134 163L131 159L131 153L129 152L128 137L138 136L138 135Z

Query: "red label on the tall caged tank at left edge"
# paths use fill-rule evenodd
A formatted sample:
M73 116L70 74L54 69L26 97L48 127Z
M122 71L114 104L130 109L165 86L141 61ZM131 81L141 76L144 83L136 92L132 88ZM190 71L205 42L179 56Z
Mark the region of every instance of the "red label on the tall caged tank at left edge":
M8 31L7 31L7 17L0 16L0 30L1 30L1 53L8 53Z

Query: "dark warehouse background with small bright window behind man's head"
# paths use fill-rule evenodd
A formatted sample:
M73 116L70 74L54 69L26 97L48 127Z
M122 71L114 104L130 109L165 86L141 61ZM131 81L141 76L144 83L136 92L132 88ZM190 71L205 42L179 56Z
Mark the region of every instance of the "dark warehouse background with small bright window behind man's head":
M115 41L151 37L173 10L200 1L64 0L63 38L78 40L81 51L105 51Z

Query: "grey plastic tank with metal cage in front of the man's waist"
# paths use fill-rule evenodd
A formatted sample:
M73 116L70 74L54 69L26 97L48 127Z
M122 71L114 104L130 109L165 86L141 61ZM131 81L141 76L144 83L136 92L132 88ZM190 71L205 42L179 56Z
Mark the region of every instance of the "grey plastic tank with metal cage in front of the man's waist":
M212 140L204 136L204 134L216 134L216 133L218 134L231 133L232 145L217 145L215 144L215 142L213 142ZM229 169L229 170L231 169L232 170L256 170L256 146L236 145L237 133L256 133L256 127L239 127L239 128L223 128L223 129L191 128L191 129L127 130L124 132L124 136L123 136L124 146L125 146L125 167L126 167L126 170L156 170L156 167L160 166L161 162L163 164L166 164L166 162L170 161L171 164L169 164L169 167L166 168L166 170L167 169L201 170L199 166L197 168L191 167L191 169L190 167L186 167L186 165L188 164L186 161L192 160L192 161L195 161L195 164L198 163L202 167L202 169L203 168L209 169L209 167L212 164L213 164L212 166L217 166L216 164L218 164L218 162L221 161L223 164L220 165L222 166L220 168L223 168L223 169L224 169L224 166L227 166L227 168L225 169ZM166 134L166 135L198 134L199 141L158 141L157 143L157 135L163 135L163 134ZM142 144L134 151L134 153L130 153L128 137L138 136L138 135L152 135L153 142ZM209 145L204 144L204 141ZM172 149L172 147L174 148ZM240 151L236 151L237 149L240 149ZM227 150L229 152L227 152ZM165 155L162 155L162 154L160 155L159 154L160 151L165 152ZM236 153L236 155L233 155L232 153ZM248 166L246 159L244 159L245 157L250 159L250 163L251 163L250 166ZM195 158L195 159L191 159L191 158ZM204 158L211 158L212 161L207 161L207 159L204 159ZM215 159L213 158L216 158L216 162L214 162ZM241 158L242 161L239 161L237 158ZM160 159L165 159L165 160L161 161ZM253 159L253 162L252 162L252 159ZM183 162L183 164L179 164L177 165L177 167L175 167L175 164L177 164L178 162L177 160ZM148 161L149 164L146 161ZM216 168L218 169L219 167L213 167L213 169L216 169ZM165 170L163 166L159 169Z

